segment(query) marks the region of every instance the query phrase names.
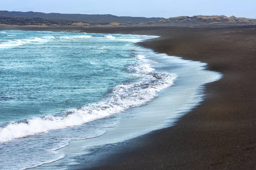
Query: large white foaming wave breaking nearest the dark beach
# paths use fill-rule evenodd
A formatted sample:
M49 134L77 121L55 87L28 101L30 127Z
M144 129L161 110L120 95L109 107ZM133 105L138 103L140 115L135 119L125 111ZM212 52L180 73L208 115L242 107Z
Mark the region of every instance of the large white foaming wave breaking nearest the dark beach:
M136 57L138 63L128 66L128 70L140 77L137 82L117 85L107 99L85 105L79 109L69 110L62 116L35 117L27 119L26 122L10 123L6 127L0 128L0 142L46 133L49 130L82 125L115 113L121 113L128 108L145 105L146 102L157 97L157 93L163 88L173 85L175 75L154 72L151 65L156 62L145 59L143 55L137 55Z

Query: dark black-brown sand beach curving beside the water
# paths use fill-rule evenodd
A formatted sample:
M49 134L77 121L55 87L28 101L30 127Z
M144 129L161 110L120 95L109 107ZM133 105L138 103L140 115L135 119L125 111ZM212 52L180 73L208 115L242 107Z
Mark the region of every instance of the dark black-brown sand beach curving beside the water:
M256 169L256 26L83 29L160 35L140 44L206 62L223 74L206 85L204 102L175 126L125 142L91 169Z

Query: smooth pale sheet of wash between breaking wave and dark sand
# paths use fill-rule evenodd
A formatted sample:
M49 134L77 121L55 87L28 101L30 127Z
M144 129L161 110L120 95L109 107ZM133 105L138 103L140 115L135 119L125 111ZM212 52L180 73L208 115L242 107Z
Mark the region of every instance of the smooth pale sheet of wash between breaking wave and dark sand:
M201 86L221 78L219 73L206 71L205 63L156 54L151 49L140 47L134 53L144 55L147 57L146 60L154 61L153 68L156 69L156 73L165 72L176 75L178 78L175 79L175 84L160 91L159 96L147 104L113 115L115 119L119 119L119 123L108 128L108 132L103 136L70 142L69 146L59 150L61 154L66 155L63 160L35 169L52 169L53 167L79 169L83 164L86 167L93 167L98 164L102 156L105 158L115 153L116 148L122 150L122 145L126 142L151 131L173 126L179 117L202 101L204 90ZM134 144L133 147L136 145ZM84 160L84 163L77 162L80 159Z

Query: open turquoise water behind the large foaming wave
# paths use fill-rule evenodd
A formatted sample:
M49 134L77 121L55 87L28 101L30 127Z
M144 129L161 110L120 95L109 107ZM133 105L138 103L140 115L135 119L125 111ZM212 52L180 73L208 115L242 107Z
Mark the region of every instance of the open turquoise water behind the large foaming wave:
M5 32L0 33L0 123L98 102L116 85L137 79L127 66L137 63L132 42L141 37Z

